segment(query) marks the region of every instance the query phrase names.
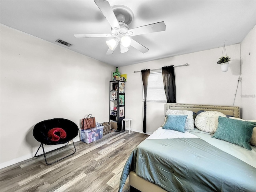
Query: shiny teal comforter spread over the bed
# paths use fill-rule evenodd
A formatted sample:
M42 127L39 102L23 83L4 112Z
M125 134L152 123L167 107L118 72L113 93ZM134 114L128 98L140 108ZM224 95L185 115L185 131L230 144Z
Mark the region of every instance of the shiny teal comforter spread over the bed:
M128 157L130 171L169 192L256 192L256 168L200 138L148 139Z

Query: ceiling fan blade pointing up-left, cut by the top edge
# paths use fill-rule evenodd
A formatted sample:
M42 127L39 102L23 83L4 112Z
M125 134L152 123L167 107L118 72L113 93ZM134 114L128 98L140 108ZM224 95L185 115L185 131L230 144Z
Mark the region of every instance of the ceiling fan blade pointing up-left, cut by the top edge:
M105 18L108 20L109 24L113 29L120 30L120 26L118 23L118 20L116 19L116 16L109 4L106 0L94 0L98 8L101 10L102 14L105 16Z

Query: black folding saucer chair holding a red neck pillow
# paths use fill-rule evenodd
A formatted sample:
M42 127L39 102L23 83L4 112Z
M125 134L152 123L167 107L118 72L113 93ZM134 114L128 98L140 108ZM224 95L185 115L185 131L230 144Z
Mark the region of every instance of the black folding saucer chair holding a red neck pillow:
M79 130L78 126L74 122L72 122L68 119L62 119L62 118L44 120L34 126L33 136L38 142L41 143L38 150L40 149L40 147L42 147L43 154L41 154L41 155L44 155L44 160L47 165L56 163L64 158L67 158L68 156L73 155L76 152L76 146L73 142L73 139L78 135L78 130ZM58 144L66 143L65 146L67 146L68 142L70 142L71 140L72 140L72 144L75 149L75 151L72 154L69 154L68 156L65 156L65 157L58 159L51 163L47 162L46 154L48 152L47 153L44 152L44 144L45 145L58 145ZM63 148L65 146L62 146L60 148ZM59 150L60 148L58 148L56 150ZM36 151L36 154L37 154L38 150ZM55 150L53 150L53 151L55 151ZM52 151L50 151L50 152L52 152ZM35 157L41 156L41 155L36 156L36 154L35 154Z

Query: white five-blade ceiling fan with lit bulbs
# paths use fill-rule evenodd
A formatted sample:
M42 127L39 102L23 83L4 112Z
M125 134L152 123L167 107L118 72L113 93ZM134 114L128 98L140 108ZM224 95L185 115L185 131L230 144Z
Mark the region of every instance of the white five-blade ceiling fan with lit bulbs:
M164 22L153 23L145 26L130 29L128 24L132 22L132 11L122 5L110 6L106 0L94 0L102 14L108 20L111 26L111 34L74 34L76 38L91 38L91 37L108 37L106 41L108 45L107 55L113 54L114 50L120 43L120 52L128 51L128 46L132 46L142 53L148 52L148 48L130 38L130 36L142 35L153 32L165 31L166 25Z

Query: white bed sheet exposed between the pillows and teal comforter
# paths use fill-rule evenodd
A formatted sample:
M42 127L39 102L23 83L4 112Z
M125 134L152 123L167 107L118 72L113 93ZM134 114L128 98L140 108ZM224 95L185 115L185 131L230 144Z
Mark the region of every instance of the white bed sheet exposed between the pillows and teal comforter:
M213 134L198 129L188 130L185 131L185 133L182 133L174 130L162 129L162 127L160 127L146 139L201 138L209 144L256 168L256 146L251 146L252 150L250 151L238 145L212 138L212 135Z

